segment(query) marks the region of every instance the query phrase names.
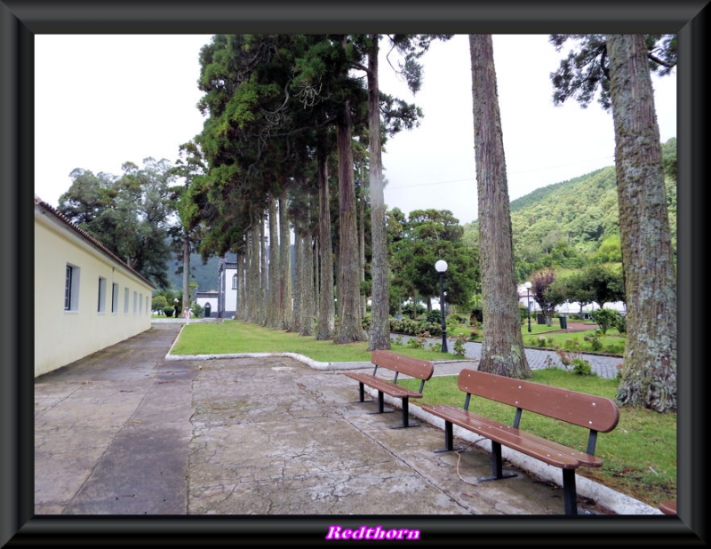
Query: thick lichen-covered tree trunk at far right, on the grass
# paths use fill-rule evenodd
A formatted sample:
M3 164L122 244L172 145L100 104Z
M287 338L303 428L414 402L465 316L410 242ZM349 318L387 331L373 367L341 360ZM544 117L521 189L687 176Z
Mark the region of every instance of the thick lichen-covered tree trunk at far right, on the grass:
M617 401L676 410L676 276L643 35L608 35L627 343Z

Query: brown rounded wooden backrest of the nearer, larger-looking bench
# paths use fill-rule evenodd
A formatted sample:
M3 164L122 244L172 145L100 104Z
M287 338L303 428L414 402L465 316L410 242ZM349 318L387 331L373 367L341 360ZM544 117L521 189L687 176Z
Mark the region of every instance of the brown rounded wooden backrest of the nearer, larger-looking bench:
M598 433L610 432L619 421L617 404L594 394L468 369L459 372L458 386L467 394L483 396Z

